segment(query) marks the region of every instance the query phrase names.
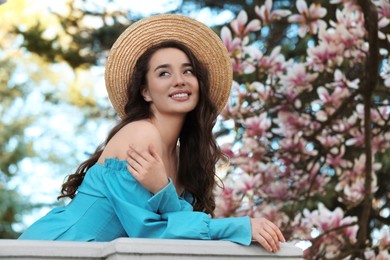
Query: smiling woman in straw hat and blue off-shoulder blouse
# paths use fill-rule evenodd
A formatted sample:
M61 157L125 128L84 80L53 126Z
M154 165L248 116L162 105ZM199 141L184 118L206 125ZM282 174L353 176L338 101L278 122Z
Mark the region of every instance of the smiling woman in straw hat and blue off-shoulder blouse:
M277 252L285 240L268 220L212 218L224 159L212 129L232 81L216 34L184 16L143 19L115 42L105 77L121 121L63 184L60 198L72 201L20 239L255 239Z

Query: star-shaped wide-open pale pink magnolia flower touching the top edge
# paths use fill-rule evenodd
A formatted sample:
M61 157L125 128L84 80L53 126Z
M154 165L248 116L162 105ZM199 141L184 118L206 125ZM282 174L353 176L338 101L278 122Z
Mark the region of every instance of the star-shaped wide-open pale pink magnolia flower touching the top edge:
M304 37L307 32L316 34L320 28L326 28L326 23L321 20L326 15L326 9L320 4L313 3L308 8L304 0L298 0L296 6L300 14L291 15L288 21L299 25L300 37Z

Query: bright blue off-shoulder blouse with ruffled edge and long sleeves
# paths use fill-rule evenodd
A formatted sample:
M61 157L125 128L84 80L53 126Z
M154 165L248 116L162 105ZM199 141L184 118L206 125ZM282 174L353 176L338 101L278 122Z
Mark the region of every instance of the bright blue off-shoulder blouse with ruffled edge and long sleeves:
M19 239L111 241L118 237L251 242L248 217L210 218L193 211L192 195L179 197L170 181L157 194L146 190L126 161L106 159L86 173L75 198L32 224Z

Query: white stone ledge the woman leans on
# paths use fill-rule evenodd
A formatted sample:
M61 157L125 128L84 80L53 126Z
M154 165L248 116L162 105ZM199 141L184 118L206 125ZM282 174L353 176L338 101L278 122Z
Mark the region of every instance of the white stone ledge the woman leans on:
M302 250L282 243L268 253L257 243L118 238L111 242L0 240L0 259L302 259Z

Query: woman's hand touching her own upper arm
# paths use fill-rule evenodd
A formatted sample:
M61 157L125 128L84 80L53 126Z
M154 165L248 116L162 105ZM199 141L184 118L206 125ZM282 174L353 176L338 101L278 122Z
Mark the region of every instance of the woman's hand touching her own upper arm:
M131 175L151 193L156 194L168 185L164 163L153 145L148 151L140 151L130 145L126 161Z

